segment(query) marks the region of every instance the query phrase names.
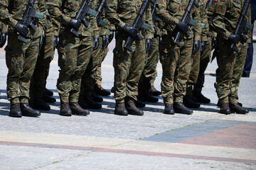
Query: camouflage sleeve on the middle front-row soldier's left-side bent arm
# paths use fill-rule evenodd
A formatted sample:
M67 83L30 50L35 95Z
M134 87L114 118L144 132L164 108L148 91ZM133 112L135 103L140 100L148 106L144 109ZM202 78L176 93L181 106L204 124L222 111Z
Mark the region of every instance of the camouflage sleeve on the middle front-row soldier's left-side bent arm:
M107 0L107 12L106 12L106 18L108 21L113 24L114 26L123 28L123 26L126 25L118 16L117 10L118 10L118 1L119 0Z

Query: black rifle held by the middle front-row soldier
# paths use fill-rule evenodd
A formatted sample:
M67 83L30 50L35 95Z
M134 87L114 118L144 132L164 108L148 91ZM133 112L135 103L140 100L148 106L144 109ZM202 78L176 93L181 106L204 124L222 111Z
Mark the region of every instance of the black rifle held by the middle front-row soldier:
M133 22L133 28L138 30L137 38L139 40L143 40L143 36L140 35L140 30L144 28L145 30L150 30L150 25L143 22L143 16L145 11L148 9L148 6L150 5L150 2L153 2L152 0L145 0L143 1L143 5L140 8L140 11L138 13L138 16L136 16L135 21ZM130 47L130 42L132 42L133 37L131 35L128 36L126 40L126 44L123 45L123 47L128 50L129 52L133 52L133 49Z

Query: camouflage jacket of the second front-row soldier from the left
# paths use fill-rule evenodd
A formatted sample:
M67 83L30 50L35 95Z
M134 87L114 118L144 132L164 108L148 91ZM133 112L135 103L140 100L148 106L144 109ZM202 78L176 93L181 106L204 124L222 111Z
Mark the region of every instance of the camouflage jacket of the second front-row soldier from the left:
M48 11L52 18L60 23L60 33L69 32L69 22L71 18L77 16L80 6L84 0L48 0ZM89 2L89 6L96 10L94 1ZM77 31L82 36L94 36L99 38L99 28L96 24L96 18L94 16L87 16L87 21L90 25L86 28L83 24Z

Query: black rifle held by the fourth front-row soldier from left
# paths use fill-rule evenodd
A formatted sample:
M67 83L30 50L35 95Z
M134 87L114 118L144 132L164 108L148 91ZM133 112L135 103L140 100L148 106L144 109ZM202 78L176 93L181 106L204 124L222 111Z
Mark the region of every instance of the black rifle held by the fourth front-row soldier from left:
M191 17L190 17L190 13L192 11L192 8L196 6L197 8L199 7L199 4L196 3L196 0L190 0L189 1L189 5L187 6L186 8L186 11L184 13L184 16L182 17L182 22L183 23L186 23L187 25L191 24L192 26L196 26L197 25L197 22L194 21ZM178 45L179 47L182 47L182 45L180 44L179 42L179 39L182 35L182 32L179 30L175 39L174 39L174 43L176 45ZM187 33L185 33L185 35L187 37L189 37L190 33L189 33L189 30L187 31Z

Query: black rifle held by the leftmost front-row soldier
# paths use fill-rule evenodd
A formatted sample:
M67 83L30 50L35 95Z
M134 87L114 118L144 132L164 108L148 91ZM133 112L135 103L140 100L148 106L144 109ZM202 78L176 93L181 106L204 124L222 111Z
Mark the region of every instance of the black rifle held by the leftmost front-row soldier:
M43 13L38 13L38 12L35 12L35 10L33 10L34 4L35 4L35 0L28 1L28 6L23 15L21 24L23 24L23 26L26 28L28 28L28 26L30 26L30 28L32 28L33 30L36 30L37 27L33 24L33 21L35 20L35 18L43 19L44 15L43 15ZM27 43L28 41L24 37L26 37L26 35L20 34L20 35L18 35L17 39L20 40L21 42Z

